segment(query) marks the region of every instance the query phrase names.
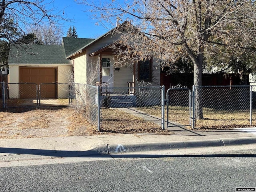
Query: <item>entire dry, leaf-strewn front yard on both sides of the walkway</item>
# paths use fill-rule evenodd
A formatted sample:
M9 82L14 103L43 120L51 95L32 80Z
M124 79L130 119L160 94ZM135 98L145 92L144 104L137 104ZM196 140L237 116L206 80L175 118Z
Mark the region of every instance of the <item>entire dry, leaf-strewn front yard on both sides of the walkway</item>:
M138 108L161 118L160 106ZM166 116L166 112L165 112ZM256 126L256 112L252 114ZM86 136L95 134L172 134L150 120L133 116L120 109L102 108L101 132L82 113L73 108L8 108L0 112L0 138ZM170 107L169 122L189 124L188 108ZM248 111L214 111L204 109L204 119L196 120L196 130L232 129L250 126ZM191 129L191 127L187 127Z

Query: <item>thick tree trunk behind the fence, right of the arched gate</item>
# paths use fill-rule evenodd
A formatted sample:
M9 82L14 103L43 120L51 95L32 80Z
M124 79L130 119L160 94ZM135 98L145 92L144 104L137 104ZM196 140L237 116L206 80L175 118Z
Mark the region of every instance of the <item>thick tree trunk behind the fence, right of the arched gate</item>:
M194 62L194 86L195 86L195 118L203 119L203 107L202 107L202 65L204 54L198 54L196 62Z

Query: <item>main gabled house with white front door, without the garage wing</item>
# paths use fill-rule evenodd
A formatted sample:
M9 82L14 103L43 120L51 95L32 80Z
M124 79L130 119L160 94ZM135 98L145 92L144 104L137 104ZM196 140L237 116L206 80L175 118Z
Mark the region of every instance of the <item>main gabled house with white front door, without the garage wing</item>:
M122 27L122 24L118 27ZM83 84L99 82L102 86L128 87L128 82L144 80L151 82L153 86L160 86L160 67L154 58L126 66L113 66L115 55L110 46L120 39L120 34L113 31L114 29L110 30L76 51L66 52L66 58L72 61L74 67L74 82ZM78 39L63 38L65 51L70 49L70 45L80 44ZM95 71L98 71L96 77Z

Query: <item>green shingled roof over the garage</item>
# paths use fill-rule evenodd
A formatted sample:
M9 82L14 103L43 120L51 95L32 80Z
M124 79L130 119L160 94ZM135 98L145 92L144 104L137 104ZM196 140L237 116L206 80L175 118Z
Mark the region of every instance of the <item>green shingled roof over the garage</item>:
M71 64L64 46L11 45L8 64Z

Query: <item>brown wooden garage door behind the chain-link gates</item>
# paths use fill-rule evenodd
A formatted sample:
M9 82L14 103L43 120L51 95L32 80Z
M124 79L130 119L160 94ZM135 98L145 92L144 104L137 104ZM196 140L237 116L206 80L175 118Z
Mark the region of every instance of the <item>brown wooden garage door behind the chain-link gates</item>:
M41 83L53 83L57 81L57 68L52 67L19 67L20 83L36 83L39 88ZM33 86L32 86L33 87ZM56 85L44 84L41 94L44 98L56 98ZM28 85L20 85L20 98L36 98L34 88Z

